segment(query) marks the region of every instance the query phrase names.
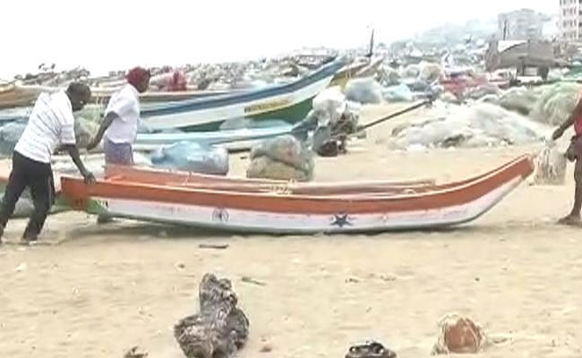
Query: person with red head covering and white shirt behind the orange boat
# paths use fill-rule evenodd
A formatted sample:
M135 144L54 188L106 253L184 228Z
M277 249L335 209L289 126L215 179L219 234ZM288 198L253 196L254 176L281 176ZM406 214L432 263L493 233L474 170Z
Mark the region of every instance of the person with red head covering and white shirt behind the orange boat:
M109 99L105 118L87 147L94 149L104 139L106 165L133 165L133 143L140 118L140 93L150 86L150 72L135 67L125 79L127 84Z

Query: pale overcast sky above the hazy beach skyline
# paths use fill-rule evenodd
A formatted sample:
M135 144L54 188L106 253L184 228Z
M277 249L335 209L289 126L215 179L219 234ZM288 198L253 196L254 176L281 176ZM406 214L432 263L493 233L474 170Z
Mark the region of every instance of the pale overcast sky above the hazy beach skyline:
M93 72L134 64L235 61L300 47L355 47L447 22L559 0L5 0L0 78L42 62Z

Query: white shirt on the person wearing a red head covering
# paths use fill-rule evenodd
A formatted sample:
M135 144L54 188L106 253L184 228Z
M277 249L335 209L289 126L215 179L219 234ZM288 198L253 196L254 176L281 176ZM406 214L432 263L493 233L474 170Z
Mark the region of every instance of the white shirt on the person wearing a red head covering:
M140 97L131 84L126 84L111 96L105 115L111 112L116 114L116 119L105 132L107 140L114 143L133 144L140 118Z

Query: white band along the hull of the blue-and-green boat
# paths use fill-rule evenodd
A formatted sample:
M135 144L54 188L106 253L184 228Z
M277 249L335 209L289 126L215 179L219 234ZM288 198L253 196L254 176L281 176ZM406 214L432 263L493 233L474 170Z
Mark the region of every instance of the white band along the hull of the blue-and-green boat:
M328 87L330 81L331 77L327 77L320 81L316 81L308 86L305 86L300 90L296 90L295 92L285 93L270 98L255 99L241 103L236 103L225 107L201 109L171 115L152 115L149 117L142 118L142 121L152 130L167 130L172 128L184 128L196 125L220 123L231 118L243 118L245 116L250 115L260 115L261 111L245 113L244 107L260 106L264 104L270 104L272 102L275 103L285 102L286 103L285 107L291 107L298 103L303 102L306 99L317 96L322 90L325 90L325 88Z

